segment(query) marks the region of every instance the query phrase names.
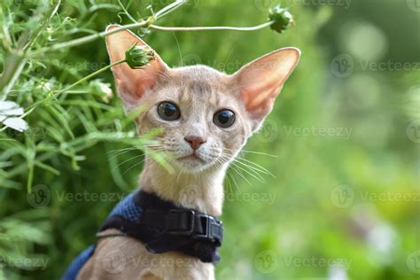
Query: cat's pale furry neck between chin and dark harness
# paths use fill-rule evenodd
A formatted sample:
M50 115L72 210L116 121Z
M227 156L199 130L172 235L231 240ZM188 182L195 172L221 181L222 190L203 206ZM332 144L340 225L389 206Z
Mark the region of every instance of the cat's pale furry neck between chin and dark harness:
M170 173L146 157L139 182L142 190L154 192L176 205L218 216L222 214L226 168L214 167L198 174Z

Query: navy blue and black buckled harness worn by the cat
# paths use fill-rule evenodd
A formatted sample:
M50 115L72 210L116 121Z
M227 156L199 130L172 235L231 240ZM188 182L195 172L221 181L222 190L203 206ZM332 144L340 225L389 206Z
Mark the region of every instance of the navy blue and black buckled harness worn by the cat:
M136 191L113 208L97 237L105 229L119 229L140 240L151 253L179 252L203 262L220 261L223 227L216 217L175 206L155 194ZM83 265L95 252L90 245L67 268L63 280L76 279Z

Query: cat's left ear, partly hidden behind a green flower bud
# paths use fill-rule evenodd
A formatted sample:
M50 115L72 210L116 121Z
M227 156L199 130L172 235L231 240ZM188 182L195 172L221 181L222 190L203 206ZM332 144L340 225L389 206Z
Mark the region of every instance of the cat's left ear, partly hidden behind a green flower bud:
M119 28L119 25L110 25L106 31ZM137 46L145 46L152 50L142 39L128 30L113 33L106 36L106 48L108 50L111 63L125 58L125 52L134 43ZM143 69L131 69L127 63L113 66L113 76L117 85L118 92L129 111L139 105L139 100L147 90L153 89L159 80L159 75L164 74L168 67L159 55L153 51L155 58L152 62L144 66Z

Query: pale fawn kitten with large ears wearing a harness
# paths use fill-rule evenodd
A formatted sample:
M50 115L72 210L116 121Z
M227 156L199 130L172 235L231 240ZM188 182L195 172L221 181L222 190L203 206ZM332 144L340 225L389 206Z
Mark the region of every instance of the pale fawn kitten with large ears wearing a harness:
M128 30L107 35L111 63L124 59L133 43L153 51ZM220 216L229 163L271 112L300 51L272 51L235 74L201 65L169 68L153 53L143 69L125 63L112 68L125 110L147 108L136 118L138 135L162 128L159 144L151 149L167 152L175 170L169 172L146 155L139 185L176 205ZM104 265L110 258L113 271ZM214 265L182 253L150 253L136 239L117 236L98 241L78 279L214 279Z

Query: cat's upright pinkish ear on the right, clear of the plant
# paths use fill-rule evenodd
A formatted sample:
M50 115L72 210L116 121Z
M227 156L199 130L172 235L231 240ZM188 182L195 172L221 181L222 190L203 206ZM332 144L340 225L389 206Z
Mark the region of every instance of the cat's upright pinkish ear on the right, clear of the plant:
M253 60L233 74L238 96L253 121L253 129L271 112L284 82L298 64L300 51L284 48Z

